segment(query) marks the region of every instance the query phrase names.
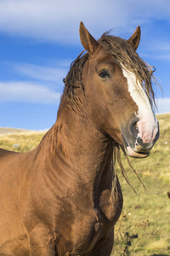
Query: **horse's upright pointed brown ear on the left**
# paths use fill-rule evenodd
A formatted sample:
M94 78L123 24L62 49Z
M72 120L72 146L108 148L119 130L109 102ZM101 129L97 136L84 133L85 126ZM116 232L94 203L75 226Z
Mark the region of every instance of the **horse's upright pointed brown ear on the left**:
M82 21L80 23L79 32L82 46L84 49L88 50L89 55L94 55L96 50L99 49L99 43L88 32Z

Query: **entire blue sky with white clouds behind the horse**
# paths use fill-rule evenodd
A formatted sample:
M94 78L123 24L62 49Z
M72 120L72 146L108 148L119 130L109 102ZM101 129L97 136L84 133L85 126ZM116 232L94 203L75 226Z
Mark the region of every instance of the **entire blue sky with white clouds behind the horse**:
M79 24L94 38L130 38L156 67L159 113L170 113L169 0L0 0L0 126L43 130L56 119L63 78L82 51Z

